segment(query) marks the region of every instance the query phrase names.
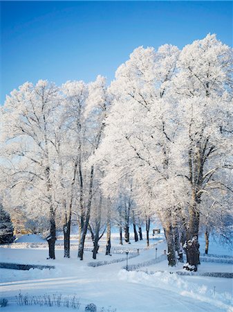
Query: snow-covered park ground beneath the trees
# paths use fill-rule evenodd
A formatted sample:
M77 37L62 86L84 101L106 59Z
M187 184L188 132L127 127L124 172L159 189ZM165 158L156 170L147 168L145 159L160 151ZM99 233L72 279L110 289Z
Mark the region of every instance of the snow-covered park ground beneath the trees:
M201 240L201 251L203 250ZM205 277L205 272L232 272L232 263L203 262L198 272L183 276L182 266L168 268L167 261L153 263L154 259L162 259L166 249L162 234L151 239L150 248L145 248L145 241L118 244L117 235L113 234L113 254L104 255L104 239L100 244L97 261L124 261L91 267L91 241L86 243L84 261L77 260L77 237L71 241L71 259L64 259L62 240L57 241L56 259L46 260L48 250L46 242L38 236L23 236L11 245L1 248L1 262L28 263L55 266L55 269L10 270L0 269L1 298L8 299L8 306L2 311L84 311L86 304L94 303L97 311L233 311L232 309L232 279ZM156 254L157 248L157 254ZM138 249L140 254L136 256ZM137 270L127 271L125 251L129 250L129 268L132 265L141 266ZM232 252L218 243L211 241L209 254L227 255L232 259ZM133 257L136 256L136 257ZM163 258L164 259L164 258ZM150 263L151 261L151 263ZM80 299L80 308L62 306L40 306L17 304L15 296L53 295L76 297Z

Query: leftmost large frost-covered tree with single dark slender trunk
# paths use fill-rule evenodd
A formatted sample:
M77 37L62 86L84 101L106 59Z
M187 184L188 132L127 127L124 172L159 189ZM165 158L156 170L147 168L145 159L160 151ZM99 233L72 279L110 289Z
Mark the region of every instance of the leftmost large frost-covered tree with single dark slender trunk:
M24 194L28 207L43 205L50 220L49 258L55 259L55 202L53 180L54 127L61 103L59 89L45 80L25 83L7 96L3 107L3 153L10 189L20 200Z

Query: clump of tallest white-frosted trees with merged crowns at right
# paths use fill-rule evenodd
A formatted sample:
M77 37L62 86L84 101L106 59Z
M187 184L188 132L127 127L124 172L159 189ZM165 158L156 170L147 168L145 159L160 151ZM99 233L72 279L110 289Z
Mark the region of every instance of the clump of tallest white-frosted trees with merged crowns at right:
M183 236L196 270L201 196L229 191L231 83L232 50L207 35L181 53L136 49L111 84L115 100L98 152L108 163L104 183L133 177L137 206L152 209L165 229L171 266Z

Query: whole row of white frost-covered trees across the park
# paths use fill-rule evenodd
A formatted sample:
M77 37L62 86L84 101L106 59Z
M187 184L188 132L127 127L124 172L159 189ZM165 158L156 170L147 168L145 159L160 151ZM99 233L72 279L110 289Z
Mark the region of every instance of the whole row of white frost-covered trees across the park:
M207 238L212 229L230 238L232 49L215 35L182 51L139 47L110 87L101 76L88 85L25 83L7 97L1 123L3 200L48 216L50 258L56 216L69 257L72 214L80 259L88 230L95 257L105 227L111 247L116 211L126 241L129 211L134 224L146 220L147 241L151 218L159 218L170 266L184 246L187 268L196 270L201 226Z

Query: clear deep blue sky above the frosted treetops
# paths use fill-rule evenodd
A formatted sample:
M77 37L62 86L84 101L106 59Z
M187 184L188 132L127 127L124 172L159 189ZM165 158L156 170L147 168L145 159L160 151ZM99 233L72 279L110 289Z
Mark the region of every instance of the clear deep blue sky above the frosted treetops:
M1 1L1 104L26 81L110 81L137 46L216 33L232 46L231 1Z

